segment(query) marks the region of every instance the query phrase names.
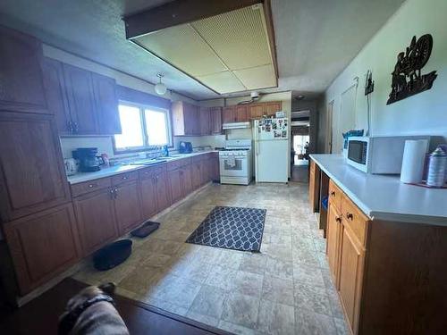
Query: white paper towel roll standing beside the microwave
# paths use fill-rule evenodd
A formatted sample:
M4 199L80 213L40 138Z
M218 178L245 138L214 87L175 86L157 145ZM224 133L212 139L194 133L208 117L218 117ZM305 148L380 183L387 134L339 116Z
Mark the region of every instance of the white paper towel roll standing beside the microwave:
M428 141L426 139L408 139L403 149L401 181L417 183L422 181L424 159Z

